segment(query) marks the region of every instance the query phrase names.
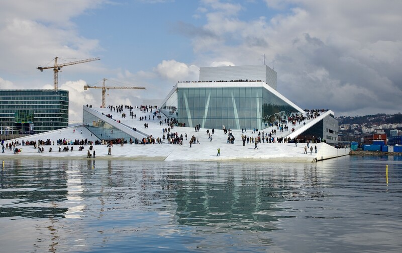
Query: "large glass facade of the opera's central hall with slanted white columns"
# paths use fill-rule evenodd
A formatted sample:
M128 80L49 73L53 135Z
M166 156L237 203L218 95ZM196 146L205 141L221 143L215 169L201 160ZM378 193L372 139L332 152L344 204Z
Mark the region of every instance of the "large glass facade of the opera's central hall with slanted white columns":
M164 110L168 108L174 112L166 114ZM278 116L299 111L261 85L177 88L162 105L161 112L188 127L261 129Z

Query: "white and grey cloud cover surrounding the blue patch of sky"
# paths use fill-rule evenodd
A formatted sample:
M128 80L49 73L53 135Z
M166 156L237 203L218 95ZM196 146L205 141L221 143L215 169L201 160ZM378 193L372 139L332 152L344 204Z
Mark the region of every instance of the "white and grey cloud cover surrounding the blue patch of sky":
M82 105L98 106L101 97L100 90L84 92L83 80L66 81L84 79L70 73L95 73L98 79L114 77L129 86L146 87L146 91L109 91L107 104L139 105L144 98L163 99L176 81L197 80L198 66L262 64L264 54L267 65L272 67L275 61L278 91L300 107L325 107L350 115L400 110L395 103L402 96L402 34L397 32L402 24L401 1L266 0L267 13L272 13L268 8L278 10L273 16L261 16L263 12L255 16L253 1L198 3L193 10L198 26L184 18L177 25L191 39L191 62L176 58L181 49L172 48L173 56L159 59L153 69L103 67L102 61L63 68L59 89L70 91L70 120L81 120ZM3 1L0 88L43 89L47 83L45 87L53 89L52 69L40 73L36 66L51 65L55 56L97 56L107 43L104 34L91 38L79 34L74 18L111 4Z

